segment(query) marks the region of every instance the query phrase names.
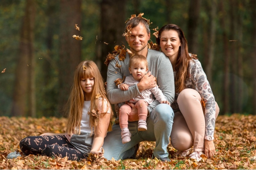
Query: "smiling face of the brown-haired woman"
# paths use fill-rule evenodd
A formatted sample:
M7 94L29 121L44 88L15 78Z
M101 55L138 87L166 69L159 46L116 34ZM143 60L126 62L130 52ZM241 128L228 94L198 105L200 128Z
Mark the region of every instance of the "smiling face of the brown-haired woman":
M180 47L180 38L175 30L164 30L160 36L160 46L162 52L171 58L177 58Z

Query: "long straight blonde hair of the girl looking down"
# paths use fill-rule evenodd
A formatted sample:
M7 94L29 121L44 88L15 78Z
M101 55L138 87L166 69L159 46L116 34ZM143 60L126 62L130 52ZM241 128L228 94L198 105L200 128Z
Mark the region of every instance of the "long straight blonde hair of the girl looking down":
M67 125L67 133L70 135L73 134L80 134L80 124L82 119L82 110L84 106L84 91L80 85L80 80L82 78L94 78L94 86L92 90L92 98L91 98L91 107L89 110L90 115L90 127L95 127L97 130L98 127L98 118L99 116L92 116L92 110L98 110L99 104L99 96L103 99L102 100L102 109L104 99L108 102L106 90L104 88L104 81L100 74L100 70L97 65L90 60L82 61L77 67L76 72L74 75L74 83L71 89L71 93L68 99L68 125ZM97 97L96 97L97 96ZM111 105L108 102L107 110L110 110L110 122L108 125L108 131L112 130L111 120L113 117L113 111L111 109ZM76 128L76 130L75 130Z

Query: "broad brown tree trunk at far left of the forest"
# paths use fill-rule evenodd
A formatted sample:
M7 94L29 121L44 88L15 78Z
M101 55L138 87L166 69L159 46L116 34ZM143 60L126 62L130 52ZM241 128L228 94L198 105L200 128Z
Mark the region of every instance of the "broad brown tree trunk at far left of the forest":
M29 116L36 114L35 60L33 54L35 14L35 1L27 0L20 34L20 57L15 71L12 116L26 116L28 110Z

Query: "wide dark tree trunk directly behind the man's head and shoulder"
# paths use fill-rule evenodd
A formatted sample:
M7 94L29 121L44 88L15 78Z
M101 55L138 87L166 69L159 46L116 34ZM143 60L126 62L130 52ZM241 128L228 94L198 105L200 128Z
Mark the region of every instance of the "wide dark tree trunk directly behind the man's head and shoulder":
M125 38L122 34L125 31L125 4L126 0L102 0L101 6L101 20L100 20L100 37L98 36L98 53L97 62L101 70L103 79L107 80L108 67L103 64L108 53L114 51L115 45L125 45ZM105 43L108 44L105 44ZM125 46L128 48L127 46ZM101 53L100 53L101 50Z

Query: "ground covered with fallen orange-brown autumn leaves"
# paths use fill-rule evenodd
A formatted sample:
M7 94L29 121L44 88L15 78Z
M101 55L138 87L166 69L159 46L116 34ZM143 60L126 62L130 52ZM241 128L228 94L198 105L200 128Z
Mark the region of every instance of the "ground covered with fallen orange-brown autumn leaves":
M155 142L141 142L137 159L88 158L77 162L66 157L38 155L6 159L22 138L44 132L60 133L65 128L65 118L0 117L0 169L256 169L256 116L239 114L217 118L214 133L217 153L211 159L203 156L200 162L189 157L177 158L171 145L168 147L171 162L151 159Z

